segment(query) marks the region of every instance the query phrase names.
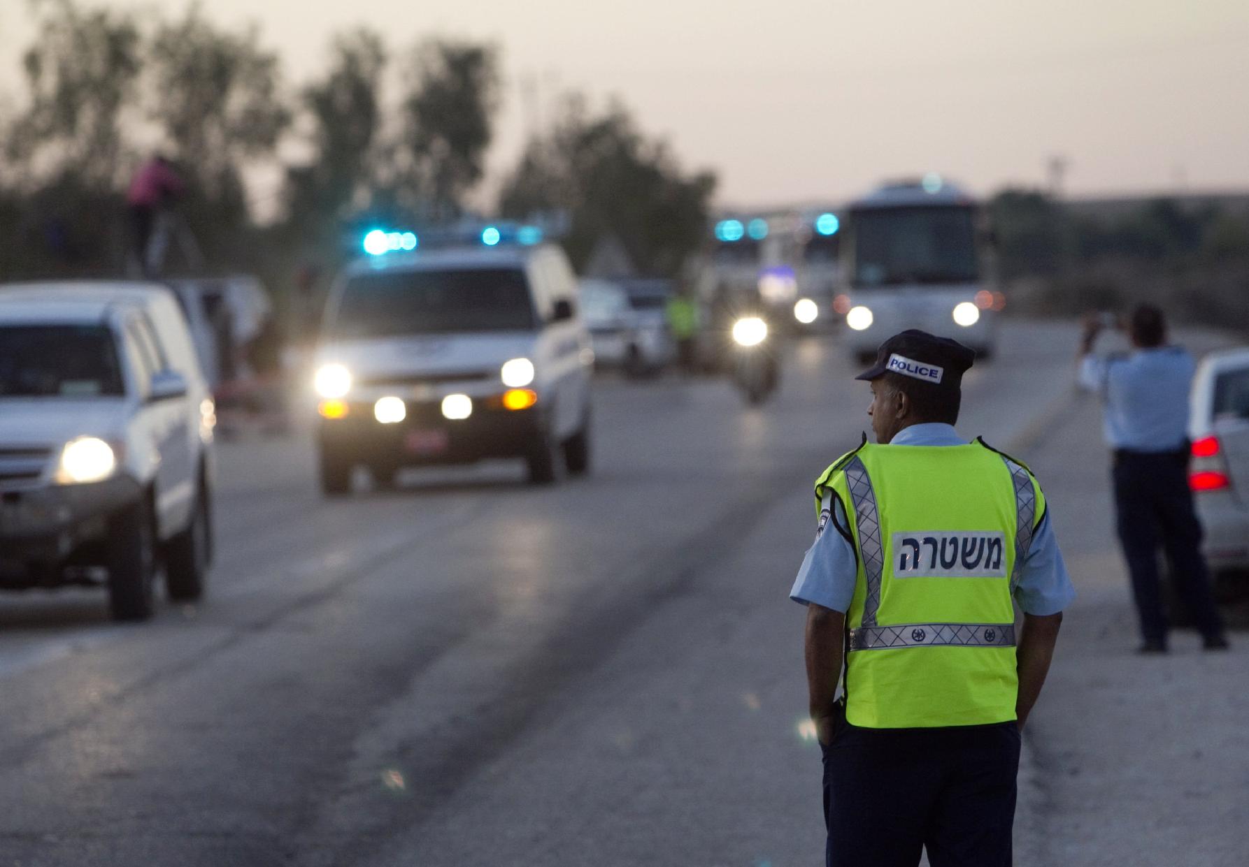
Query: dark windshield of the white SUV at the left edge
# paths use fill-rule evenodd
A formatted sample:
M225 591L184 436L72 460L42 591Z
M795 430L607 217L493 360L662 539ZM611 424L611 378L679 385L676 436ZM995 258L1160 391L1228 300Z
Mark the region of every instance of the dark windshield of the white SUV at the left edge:
M104 326L0 326L0 398L124 393L117 347Z

